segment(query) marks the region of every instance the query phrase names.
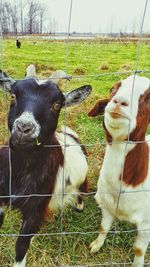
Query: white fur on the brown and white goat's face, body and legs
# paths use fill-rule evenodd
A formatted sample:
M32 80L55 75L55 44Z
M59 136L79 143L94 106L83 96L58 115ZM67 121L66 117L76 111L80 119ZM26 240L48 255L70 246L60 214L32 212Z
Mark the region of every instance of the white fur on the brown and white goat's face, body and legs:
M105 126L112 135L113 141L124 141L128 132L135 129L139 98L149 88L150 80L136 76L131 109L132 85L133 76L130 76L122 81L121 87L113 97L113 99L124 99L129 103L128 106L121 107L120 112L123 113L123 117L117 119L111 117L109 112L113 111L115 106L113 100L106 107ZM148 139L147 137L146 140ZM120 180L125 157L135 146L136 144L126 145L123 142L118 144L114 142L106 147L95 195L96 202L102 209L101 231L97 239L91 243L90 248L91 253L95 253L102 247L115 217L128 221L137 226L138 235L133 247L141 250L141 255L135 255L133 266L142 267L144 266L144 255L150 242L150 231L148 230L150 229L150 192L146 191L150 190L150 155L148 173L143 183L132 187Z

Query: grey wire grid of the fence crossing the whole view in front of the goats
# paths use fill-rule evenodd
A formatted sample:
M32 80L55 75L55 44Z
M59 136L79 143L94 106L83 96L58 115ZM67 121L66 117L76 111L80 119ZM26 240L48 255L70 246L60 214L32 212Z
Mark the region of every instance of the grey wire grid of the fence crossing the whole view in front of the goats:
M0 5L2 7L2 0L0 1ZM148 5L148 0L145 1L145 4L144 4L144 10L143 10L143 16L142 16L142 20L141 20L141 25L140 25L140 30L139 30L139 40L137 42L137 50L136 50L136 66L135 66L135 70L133 71L121 71L121 72L108 72L108 73L100 73L100 74L90 74L90 75L71 75L69 76L68 74L68 68L69 68L69 44L70 44L70 39L69 39L69 36L70 36L70 26L71 26L71 18L72 18L72 10L73 10L73 0L70 0L70 11L69 11L69 18L68 18L68 30L67 30L67 37L66 37L66 73L67 73L67 78L69 79L86 79L86 78L96 78L96 77L103 77L103 76L111 76L111 75L116 75L116 76L119 76L119 75L127 75L127 74L133 74L134 75L134 79L133 79L133 86L132 86L132 96L131 96L131 102L133 101L133 92L134 92L134 81L135 81L135 75L137 73L150 73L150 70L141 70L141 69L138 69L138 65L139 65L139 55L140 55L140 47L141 47L141 38L142 38L142 33L143 33L143 25L144 25L144 20L145 20L145 16L146 16L146 10L147 10L147 5ZM2 9L1 9L2 10ZM0 15L1 15L1 11L0 11ZM2 16L0 16L2 18ZM1 19L0 19L1 20ZM1 23L2 25L2 23ZM2 65L2 62L3 62L3 35L2 35L2 28L1 28L1 45L0 45L0 52L1 52L1 69L3 69L3 65ZM4 99L4 107L5 107L5 113L6 113L6 119L7 119L7 116L8 116L8 105L7 105L7 97L6 97L6 88L5 88L5 85L3 87L3 99ZM68 81L66 80L66 87L65 87L65 92L68 92ZM130 115L132 114L132 105L131 105L131 110L130 110ZM64 122L65 122L65 133L66 133L66 125L67 125L67 109L65 107L65 113L64 113ZM99 193L100 194L116 194L117 195L117 205L116 205L116 217L117 217L117 213L118 213L118 206L119 206L119 200L120 200L120 196L121 194L132 194L133 191L123 191L122 190L122 179L123 179L123 170L124 170L124 162L125 162L125 154L126 154L126 150L127 150L127 146L129 144L137 144L137 143L144 143L145 141L138 141L138 142L132 142L129 140L129 133L130 133L130 123L129 123L129 129L128 129L128 140L127 142L122 142L125 144L125 149L124 149L124 159L123 159L123 162L122 162L122 172L121 172L121 183L120 183L120 188L119 188L119 191L118 192L103 192L103 191L100 191ZM68 146L73 146L73 145L68 145L67 142L66 142L66 135L64 135L64 156L65 156L65 150L66 150L66 147ZM8 139L9 139L9 132L8 132ZM150 140L148 140L148 142L150 142ZM114 143L114 142L113 142ZM116 142L117 143L117 142ZM121 143L121 142L119 142ZM98 143L83 143L81 145L84 145L86 147L93 147L95 145L107 145L106 141L100 141ZM3 145L3 144L0 144L0 147L9 147L9 145ZM51 145L46 145L47 148L50 148L50 147L56 147L56 146L51 146ZM17 197L16 195L13 195L12 192L11 192L11 157L10 157L10 150L9 150L9 168L10 168L10 179L9 179L9 195L8 196L0 196L0 199L1 198L10 198L10 205L9 205L9 220L10 220L10 229L9 229L9 233L6 234L6 233L1 233L0 234L0 237L18 237L18 236L31 236L32 234L30 235L22 235L22 234L16 234L14 229L13 229L13 223L12 223L12 205L11 205L11 202L12 202L12 199ZM65 171L65 170L64 170ZM62 179L62 185L64 184L64 177L65 177L65 173L63 171L63 179ZM63 188L63 186L62 186ZM150 192L150 189L147 189L147 190L134 190L134 193L141 193L141 192ZM93 196L94 194L96 193L96 190L92 190L92 192L88 192L88 193L83 193L83 195L85 196ZM19 196L20 198L28 198L28 197L45 197L45 196L52 196L53 194L43 194L43 195L40 195L40 194L31 194L31 195L22 195L22 196ZM96 267L96 266L130 266L131 265L131 262L116 262L115 259L114 259L114 247L115 247L115 238L116 238L116 235L117 234L132 234L132 233L137 233L137 229L134 228L134 229L131 229L131 230L118 230L117 229L117 223L115 222L114 223L114 226L113 226L113 230L110 230L109 231L109 234L111 234L113 237L112 237L112 244L111 244L111 250L110 250L110 258L109 260L106 262L106 263L86 263L84 265L80 265L80 264L76 264L74 263L74 265L64 265L63 264L63 238L65 236L72 236L72 235L75 235L75 236L86 236L86 235L93 235L93 234L98 234L99 231L65 231L65 228L64 228L64 225L63 225L63 221L64 221L64 208L63 208L63 199L64 199L64 196L67 195L67 193L64 192L64 188L63 188L63 191L62 191L62 194L61 194L61 197L62 197L62 209L61 209L61 214L60 214L60 231L58 232L51 232L51 233L38 233L38 234L34 234L34 236L37 236L37 237L42 237L42 236L48 236L48 237L51 237L51 236L59 236L60 237L60 245L59 245L59 255L60 255L60 258L59 258L59 267ZM58 196L60 197L60 196ZM138 231L150 231L150 229L139 229ZM74 252L73 252L74 253ZM73 255L73 258L74 258L74 255ZM11 254L11 265L13 264L13 254ZM145 266L150 266L150 262L149 263L145 263ZM51 267L48 265L48 267Z

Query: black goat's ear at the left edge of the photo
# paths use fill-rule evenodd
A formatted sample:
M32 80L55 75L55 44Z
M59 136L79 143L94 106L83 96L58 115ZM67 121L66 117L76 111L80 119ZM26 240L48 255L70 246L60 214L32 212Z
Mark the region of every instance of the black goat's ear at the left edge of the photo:
M6 72L0 70L0 86L3 90L10 92L11 85L15 82L11 77L9 77Z

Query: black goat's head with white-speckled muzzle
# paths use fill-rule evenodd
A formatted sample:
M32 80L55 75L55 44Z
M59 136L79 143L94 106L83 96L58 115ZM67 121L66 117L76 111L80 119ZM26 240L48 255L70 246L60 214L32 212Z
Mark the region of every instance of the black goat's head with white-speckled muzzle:
M33 66L31 70L34 74ZM85 85L63 94L57 84L49 79L40 81L26 77L14 81L11 84L12 101L8 116L11 146L31 148L49 144L61 108L82 102L90 92L91 86Z

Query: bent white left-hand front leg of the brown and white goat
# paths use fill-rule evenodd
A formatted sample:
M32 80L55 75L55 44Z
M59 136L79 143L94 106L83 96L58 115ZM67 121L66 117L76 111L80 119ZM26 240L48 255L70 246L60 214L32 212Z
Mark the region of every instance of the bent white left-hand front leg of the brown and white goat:
M106 239L106 235L109 232L113 223L114 217L106 210L102 208L102 221L100 225L100 233L98 237L90 244L90 252L96 253L103 246Z

